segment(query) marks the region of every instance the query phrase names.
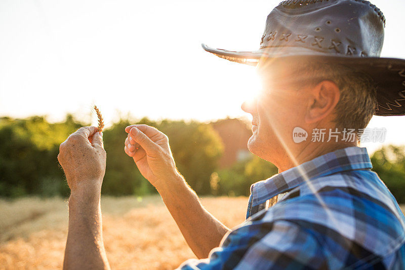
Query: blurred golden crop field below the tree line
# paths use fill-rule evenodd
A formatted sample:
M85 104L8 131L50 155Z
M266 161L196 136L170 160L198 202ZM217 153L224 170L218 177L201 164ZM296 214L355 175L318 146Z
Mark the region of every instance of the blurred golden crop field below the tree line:
M248 199L203 198L203 205L235 226ZM159 196L102 197L103 237L113 269L173 269L195 258ZM61 269L67 237L67 201L0 200L0 269Z

